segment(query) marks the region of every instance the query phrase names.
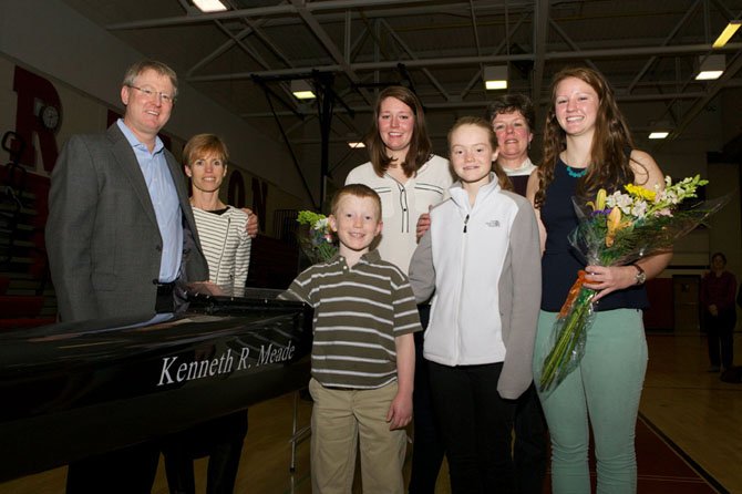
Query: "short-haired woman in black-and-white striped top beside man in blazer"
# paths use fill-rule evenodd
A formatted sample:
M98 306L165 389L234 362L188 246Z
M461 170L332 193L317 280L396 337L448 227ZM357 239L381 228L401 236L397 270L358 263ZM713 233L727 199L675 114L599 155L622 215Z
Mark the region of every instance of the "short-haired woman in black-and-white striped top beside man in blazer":
M208 261L209 281L217 286L215 292L219 295L241 297L250 261L250 237L246 229L248 215L219 199L228 159L227 145L214 134L194 135L183 148L185 174L192 183L190 205ZM207 351L210 353L213 347ZM209 457L207 494L234 492L246 434L245 410L199 423L163 440L171 493L195 494L193 461L202 456Z

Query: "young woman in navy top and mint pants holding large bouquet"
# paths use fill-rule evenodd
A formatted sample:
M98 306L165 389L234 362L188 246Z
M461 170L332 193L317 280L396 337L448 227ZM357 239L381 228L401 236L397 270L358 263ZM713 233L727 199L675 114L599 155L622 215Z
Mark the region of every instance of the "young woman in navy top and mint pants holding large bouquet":
M555 494L589 493L589 425L597 460L598 493L637 490L635 425L647 368L643 282L668 265L671 254L629 266L585 266L567 236L577 226L573 196L584 204L598 189L610 194L627 184L664 186L652 157L633 148L631 135L605 78L586 68L565 69L552 85L544 128L544 162L530 175L527 196L542 233L542 312L534 350L538 372L549 351L554 321L577 271L597 295L596 319L585 354L556 389L540 393L552 439Z

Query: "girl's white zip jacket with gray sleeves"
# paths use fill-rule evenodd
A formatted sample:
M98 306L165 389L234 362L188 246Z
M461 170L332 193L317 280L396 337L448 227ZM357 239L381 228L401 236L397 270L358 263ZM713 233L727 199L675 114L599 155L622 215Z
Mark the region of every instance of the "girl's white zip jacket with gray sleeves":
M473 207L460 183L431 212L410 265L419 302L433 292L424 356L444 366L504 362L497 390L515 399L533 380L540 305L538 227L530 204L494 174Z

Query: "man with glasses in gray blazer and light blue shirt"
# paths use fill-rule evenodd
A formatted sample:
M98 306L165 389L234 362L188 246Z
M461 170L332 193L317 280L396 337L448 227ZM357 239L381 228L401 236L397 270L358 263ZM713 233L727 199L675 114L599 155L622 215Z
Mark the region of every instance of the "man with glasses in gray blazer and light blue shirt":
M121 88L124 117L62 151L47 223L62 321L174 312L176 282L208 280L183 167L157 137L176 96L169 66L135 63ZM148 493L158 454L141 444L72 463L68 492Z

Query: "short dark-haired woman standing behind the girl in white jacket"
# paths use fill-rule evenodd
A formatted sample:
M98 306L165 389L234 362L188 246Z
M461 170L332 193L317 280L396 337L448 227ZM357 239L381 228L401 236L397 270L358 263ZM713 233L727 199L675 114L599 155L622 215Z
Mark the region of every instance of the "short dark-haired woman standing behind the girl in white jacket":
M507 174L513 188L525 197L528 177L536 166L528 157L534 138L534 106L528 96L505 94L496 97L487 110L487 121L497 136L497 165ZM518 398L514 418L516 492L540 494L546 476L548 436L536 387Z

